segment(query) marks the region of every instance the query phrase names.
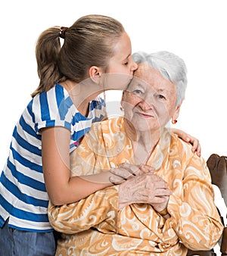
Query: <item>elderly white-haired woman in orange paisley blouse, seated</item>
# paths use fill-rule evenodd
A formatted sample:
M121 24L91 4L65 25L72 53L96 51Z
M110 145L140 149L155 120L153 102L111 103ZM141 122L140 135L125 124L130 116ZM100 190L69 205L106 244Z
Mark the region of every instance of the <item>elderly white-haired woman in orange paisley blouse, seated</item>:
M72 175L112 168L127 177L132 165L135 175L112 179L116 185L79 202L50 204L51 225L63 233L58 255L183 256L187 248L213 248L222 234L204 159L166 126L176 122L185 97L184 62L169 52L134 59L124 117L94 124L71 157Z

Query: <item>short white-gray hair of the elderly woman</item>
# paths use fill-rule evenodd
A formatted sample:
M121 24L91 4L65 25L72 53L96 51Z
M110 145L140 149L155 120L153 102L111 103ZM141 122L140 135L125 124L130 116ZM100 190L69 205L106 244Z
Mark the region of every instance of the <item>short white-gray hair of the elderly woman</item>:
M187 68L185 62L179 56L172 52L135 52L132 55L134 61L139 63L148 63L151 67L159 70L164 78L176 84L177 99L176 105L179 105L185 98L187 87Z

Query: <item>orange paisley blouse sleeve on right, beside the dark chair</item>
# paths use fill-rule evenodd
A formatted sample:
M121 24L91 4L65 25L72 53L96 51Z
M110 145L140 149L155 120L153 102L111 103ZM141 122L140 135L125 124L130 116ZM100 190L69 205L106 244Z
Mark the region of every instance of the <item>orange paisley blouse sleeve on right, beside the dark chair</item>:
M169 196L168 211L164 229L173 228L180 241L191 250L213 248L222 234L222 223L213 201L213 186L210 172L203 158L191 154L182 164L181 178L183 193L173 192ZM176 177L175 186L178 180Z

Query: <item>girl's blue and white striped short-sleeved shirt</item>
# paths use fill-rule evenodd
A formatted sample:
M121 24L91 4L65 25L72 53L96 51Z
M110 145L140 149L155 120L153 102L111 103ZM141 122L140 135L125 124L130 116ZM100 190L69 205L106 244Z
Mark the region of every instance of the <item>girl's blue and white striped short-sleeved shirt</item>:
M8 160L0 177L0 226L9 217L8 226L15 229L52 230L47 215L40 130L48 126L70 130L71 152L92 122L103 119L104 108L104 100L97 98L90 103L89 116L82 116L60 84L30 101L14 128Z

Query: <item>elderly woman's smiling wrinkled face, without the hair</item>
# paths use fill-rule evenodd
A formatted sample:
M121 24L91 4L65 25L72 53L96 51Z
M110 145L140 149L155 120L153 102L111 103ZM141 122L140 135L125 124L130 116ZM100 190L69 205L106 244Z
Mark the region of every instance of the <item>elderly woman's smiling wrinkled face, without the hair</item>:
M137 131L160 130L178 117L180 108L176 107L176 85L145 63L138 65L122 105L126 121Z

